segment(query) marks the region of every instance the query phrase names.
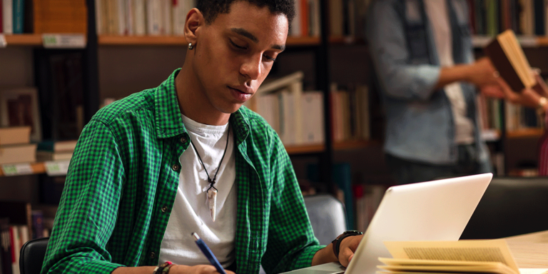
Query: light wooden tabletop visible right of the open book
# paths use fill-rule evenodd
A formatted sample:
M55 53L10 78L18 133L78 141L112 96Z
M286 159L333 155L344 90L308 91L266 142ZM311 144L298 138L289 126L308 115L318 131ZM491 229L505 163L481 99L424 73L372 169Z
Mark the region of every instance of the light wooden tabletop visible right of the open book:
M505 239L519 268L548 268L548 230Z

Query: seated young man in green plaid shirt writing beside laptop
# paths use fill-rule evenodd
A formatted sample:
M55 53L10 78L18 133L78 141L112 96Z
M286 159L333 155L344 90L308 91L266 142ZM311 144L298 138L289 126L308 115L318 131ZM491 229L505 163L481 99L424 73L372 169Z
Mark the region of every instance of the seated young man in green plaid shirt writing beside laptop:
M361 236L335 241L338 258L318 245L283 144L242 106L293 14L291 0L198 1L183 67L84 128L42 273L215 273L194 232L238 273L347 265Z

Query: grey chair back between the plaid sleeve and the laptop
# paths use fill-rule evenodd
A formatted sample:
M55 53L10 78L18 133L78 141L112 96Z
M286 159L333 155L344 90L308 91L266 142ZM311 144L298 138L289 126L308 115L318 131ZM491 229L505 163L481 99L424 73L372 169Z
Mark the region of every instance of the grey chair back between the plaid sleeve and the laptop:
M314 235L321 245L329 245L347 230L345 207L336 198L321 194L305 196L304 199Z

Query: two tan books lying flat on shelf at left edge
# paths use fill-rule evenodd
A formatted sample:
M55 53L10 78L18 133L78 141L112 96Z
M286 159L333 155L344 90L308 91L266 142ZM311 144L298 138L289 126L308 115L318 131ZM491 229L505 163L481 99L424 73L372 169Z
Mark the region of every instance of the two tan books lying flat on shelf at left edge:
M36 144L31 143L30 126L0 127L0 164L35 161Z

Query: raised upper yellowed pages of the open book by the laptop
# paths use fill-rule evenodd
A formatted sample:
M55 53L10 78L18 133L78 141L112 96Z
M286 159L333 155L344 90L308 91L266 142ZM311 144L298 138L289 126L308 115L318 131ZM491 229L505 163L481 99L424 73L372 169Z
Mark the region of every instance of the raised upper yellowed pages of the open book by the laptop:
M385 241L396 259L499 262L519 273L506 240Z

